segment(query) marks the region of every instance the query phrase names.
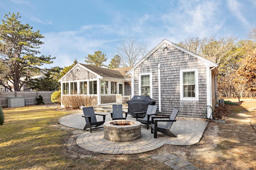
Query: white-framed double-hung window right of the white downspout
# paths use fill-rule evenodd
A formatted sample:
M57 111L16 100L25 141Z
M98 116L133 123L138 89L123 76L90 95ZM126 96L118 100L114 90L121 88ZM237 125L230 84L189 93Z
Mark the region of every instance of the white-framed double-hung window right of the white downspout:
M198 70L180 70L180 100L198 100Z

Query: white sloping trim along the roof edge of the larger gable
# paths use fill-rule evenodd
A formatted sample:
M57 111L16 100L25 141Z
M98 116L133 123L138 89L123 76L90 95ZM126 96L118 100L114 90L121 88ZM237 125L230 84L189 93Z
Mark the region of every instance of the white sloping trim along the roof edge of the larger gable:
M214 61L214 59L211 59L212 61L204 58L204 57L201 57L191 51L188 51L187 49L184 49L166 39L164 39L161 43L159 43L154 49L152 49L145 57L143 57L137 64L135 64L132 69L130 69L127 74L130 74L132 71L134 71L140 64L142 64L148 57L150 57L156 50L158 50L159 48L161 48L162 46L164 46L165 44L168 44L168 45L171 45L172 47L175 47L176 49L179 49L180 51L183 51L184 53L187 53L193 57L196 57L197 59L200 59L202 61L204 61L205 63L208 63L210 64L210 66L212 67L217 67L218 64L216 64L215 62L212 62ZM212 58L212 57L211 57ZM215 59L216 60L216 59Z

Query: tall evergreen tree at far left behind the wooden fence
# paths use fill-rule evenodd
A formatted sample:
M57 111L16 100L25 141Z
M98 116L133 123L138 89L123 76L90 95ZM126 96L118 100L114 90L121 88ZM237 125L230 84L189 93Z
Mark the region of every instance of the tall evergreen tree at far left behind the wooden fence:
M40 41L44 38L38 31L32 31L28 23L22 24L19 19L19 13L6 14L6 20L2 20L0 25L0 59L4 67L8 68L9 74L6 74L1 80L0 85L10 91L20 91L22 86L30 82L30 72L42 71L43 64L52 63L50 56L38 56L39 46L43 44ZM21 80L21 78L24 78ZM14 89L6 81L13 84Z

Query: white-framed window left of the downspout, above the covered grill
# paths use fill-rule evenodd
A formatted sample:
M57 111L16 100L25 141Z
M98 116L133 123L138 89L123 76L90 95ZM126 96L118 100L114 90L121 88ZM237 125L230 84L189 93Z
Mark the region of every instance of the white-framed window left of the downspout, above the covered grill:
M152 73L139 74L139 94L152 98Z

